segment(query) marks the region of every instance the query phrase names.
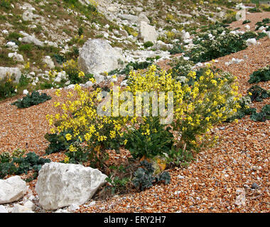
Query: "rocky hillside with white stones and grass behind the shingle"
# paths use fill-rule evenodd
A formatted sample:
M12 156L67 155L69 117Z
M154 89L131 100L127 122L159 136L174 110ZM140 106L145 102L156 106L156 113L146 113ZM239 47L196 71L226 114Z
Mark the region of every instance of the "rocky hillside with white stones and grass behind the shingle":
M113 69L128 62L168 59L175 43L192 45L190 35L197 28L235 16L234 6L233 1L1 0L1 75L6 74L3 67L18 68L10 69L17 81L21 73L26 77L18 94L68 86L65 75L55 82L49 71L77 60L89 38L107 40L123 56L123 64Z

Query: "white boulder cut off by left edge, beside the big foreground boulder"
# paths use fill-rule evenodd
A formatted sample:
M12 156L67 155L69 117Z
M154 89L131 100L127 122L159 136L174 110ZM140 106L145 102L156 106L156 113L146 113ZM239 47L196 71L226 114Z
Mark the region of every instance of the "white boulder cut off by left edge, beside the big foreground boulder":
M26 194L26 182L20 176L0 179L0 204L18 201Z

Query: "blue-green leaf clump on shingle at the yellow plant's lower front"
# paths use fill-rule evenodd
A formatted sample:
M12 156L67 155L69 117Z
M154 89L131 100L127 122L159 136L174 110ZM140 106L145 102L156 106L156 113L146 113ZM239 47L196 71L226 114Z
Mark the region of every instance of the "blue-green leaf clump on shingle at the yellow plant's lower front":
M160 175L153 175L154 168L151 163L143 160L140 162L140 166L136 172L134 172L134 179L132 182L135 187L139 187L141 191L150 188L153 184L158 182L164 182L169 184L171 182L171 176L168 172L161 172Z

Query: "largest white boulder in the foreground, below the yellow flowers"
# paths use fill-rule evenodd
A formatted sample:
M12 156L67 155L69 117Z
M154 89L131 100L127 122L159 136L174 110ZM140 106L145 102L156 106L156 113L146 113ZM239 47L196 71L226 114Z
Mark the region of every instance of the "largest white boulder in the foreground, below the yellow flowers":
M45 163L38 172L36 192L46 210L84 204L106 181L106 175L83 165Z

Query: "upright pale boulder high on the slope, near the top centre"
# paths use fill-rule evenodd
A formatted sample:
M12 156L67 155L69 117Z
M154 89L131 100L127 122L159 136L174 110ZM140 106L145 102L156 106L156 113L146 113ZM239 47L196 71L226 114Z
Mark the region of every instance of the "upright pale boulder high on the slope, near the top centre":
M140 32L139 32L139 40L146 43L147 41L151 41L155 43L158 38L158 33L153 26L148 25L145 21L140 22Z

